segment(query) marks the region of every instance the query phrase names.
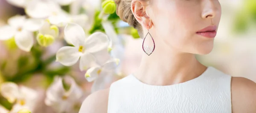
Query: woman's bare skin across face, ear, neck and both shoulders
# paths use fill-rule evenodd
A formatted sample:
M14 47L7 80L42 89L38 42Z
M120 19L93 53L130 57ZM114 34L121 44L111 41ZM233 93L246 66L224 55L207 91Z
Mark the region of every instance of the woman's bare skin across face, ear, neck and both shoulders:
M209 54L214 38L196 32L209 25L218 27L218 0L133 0L131 4L144 34L149 27L156 45L153 54L144 54L138 71L134 72L137 79L149 85L174 85L195 79L207 69L195 54ZM108 93L109 89L105 89L88 96L79 113L106 113ZM256 83L232 77L231 99L233 113L256 113Z

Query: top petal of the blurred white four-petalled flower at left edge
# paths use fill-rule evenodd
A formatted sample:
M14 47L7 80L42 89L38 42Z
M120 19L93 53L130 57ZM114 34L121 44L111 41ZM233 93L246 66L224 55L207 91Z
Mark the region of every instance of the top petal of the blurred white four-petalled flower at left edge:
M15 15L8 20L8 24L14 28L22 28L26 21L26 16Z

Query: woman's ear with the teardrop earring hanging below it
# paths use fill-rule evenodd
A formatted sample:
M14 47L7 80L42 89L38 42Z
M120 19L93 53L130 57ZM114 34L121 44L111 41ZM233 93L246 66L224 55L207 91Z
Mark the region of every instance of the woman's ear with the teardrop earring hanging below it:
M146 29L150 29L153 23L146 13L146 6L148 2L142 0L132 0L131 1L131 11L134 14L135 19Z

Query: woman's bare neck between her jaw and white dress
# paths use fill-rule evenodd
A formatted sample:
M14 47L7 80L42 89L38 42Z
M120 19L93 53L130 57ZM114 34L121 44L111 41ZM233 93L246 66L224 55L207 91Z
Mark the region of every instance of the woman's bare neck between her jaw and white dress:
M149 85L174 85L194 79L206 69L194 54L177 53L156 46L153 54L143 55L134 76Z

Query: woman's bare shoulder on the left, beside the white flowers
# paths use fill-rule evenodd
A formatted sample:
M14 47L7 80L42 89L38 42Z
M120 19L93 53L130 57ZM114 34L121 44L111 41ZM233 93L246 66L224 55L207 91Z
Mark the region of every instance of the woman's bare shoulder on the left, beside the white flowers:
M79 113L107 113L108 93L109 88L96 91L87 96L81 105Z

